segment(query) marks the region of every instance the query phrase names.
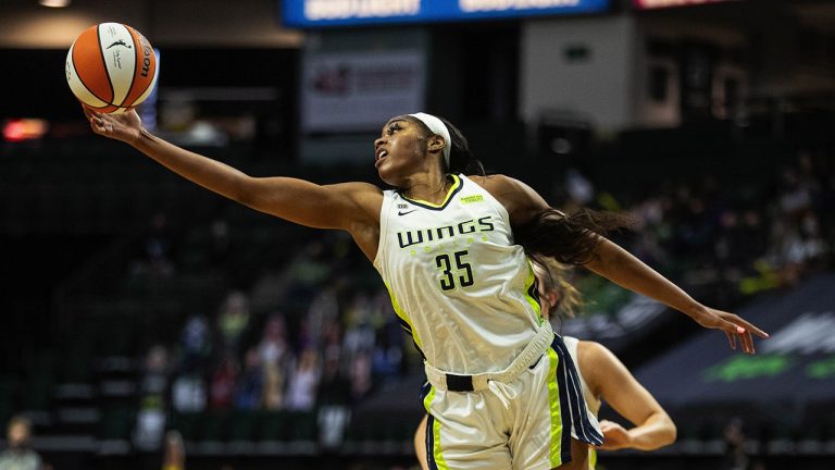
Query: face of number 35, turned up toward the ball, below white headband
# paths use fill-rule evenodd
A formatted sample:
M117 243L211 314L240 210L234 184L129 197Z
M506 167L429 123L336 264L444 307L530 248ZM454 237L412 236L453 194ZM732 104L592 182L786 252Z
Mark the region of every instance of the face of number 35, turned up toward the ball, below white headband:
M391 119L374 140L374 166L389 185L402 182L421 169L426 156L426 136L418 123L406 116Z

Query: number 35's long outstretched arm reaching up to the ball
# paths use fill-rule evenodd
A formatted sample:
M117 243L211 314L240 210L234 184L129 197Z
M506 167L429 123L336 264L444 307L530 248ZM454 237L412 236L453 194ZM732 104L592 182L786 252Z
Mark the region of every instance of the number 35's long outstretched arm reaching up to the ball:
M382 191L376 186L252 177L152 135L135 111L101 114L85 109L85 114L96 134L127 143L180 176L252 209L311 227L347 230L354 238L379 225ZM372 247L362 248L367 253Z

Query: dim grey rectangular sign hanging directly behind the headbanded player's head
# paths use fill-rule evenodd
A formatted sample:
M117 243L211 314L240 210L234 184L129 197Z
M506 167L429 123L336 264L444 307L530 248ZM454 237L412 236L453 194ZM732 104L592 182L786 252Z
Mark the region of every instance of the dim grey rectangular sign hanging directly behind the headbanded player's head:
M419 50L311 54L304 60L304 133L378 131L388 119L421 111L426 77Z

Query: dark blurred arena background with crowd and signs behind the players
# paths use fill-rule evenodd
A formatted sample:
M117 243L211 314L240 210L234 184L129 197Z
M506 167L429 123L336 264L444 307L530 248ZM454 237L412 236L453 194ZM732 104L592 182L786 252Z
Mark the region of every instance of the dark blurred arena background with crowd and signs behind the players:
M634 215L618 243L771 333L733 352L577 270L557 326L678 425L601 468L835 468L835 2L2 0L0 424L43 468L416 468L423 369L376 272L94 136L63 67L108 21L157 48L140 112L171 141L378 183L379 127L426 110L554 207Z

